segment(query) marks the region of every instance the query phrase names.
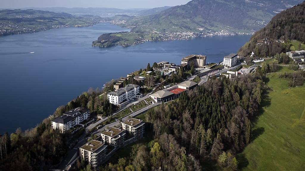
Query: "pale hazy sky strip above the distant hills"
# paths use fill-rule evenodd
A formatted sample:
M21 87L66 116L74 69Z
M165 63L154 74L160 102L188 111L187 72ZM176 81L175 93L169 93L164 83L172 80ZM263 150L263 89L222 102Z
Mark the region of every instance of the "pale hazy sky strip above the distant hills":
M104 8L155 8L186 4L191 0L0 0L0 8L27 7L104 7Z

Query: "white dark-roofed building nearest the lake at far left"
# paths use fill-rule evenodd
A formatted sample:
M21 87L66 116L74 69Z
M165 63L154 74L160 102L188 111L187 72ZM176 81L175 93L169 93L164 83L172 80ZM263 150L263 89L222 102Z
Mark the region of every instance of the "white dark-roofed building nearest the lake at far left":
M78 107L76 109L69 110L63 113L61 116L51 121L52 128L65 132L72 127L79 125L82 121L87 120L90 117L90 111L87 108Z

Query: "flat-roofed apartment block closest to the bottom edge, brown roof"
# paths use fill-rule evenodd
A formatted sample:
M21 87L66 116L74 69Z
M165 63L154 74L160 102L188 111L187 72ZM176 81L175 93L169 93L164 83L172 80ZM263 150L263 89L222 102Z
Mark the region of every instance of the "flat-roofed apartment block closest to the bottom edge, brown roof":
M79 148L79 155L92 167L97 168L105 158L106 147L102 141L91 140Z

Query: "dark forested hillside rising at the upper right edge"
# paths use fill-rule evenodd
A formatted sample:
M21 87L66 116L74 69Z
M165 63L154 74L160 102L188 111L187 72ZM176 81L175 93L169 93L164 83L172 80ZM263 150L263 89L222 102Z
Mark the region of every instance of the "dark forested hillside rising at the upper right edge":
M305 42L305 2L274 16L238 53L246 56L254 51L257 56L273 56L290 51L295 40L299 45Z

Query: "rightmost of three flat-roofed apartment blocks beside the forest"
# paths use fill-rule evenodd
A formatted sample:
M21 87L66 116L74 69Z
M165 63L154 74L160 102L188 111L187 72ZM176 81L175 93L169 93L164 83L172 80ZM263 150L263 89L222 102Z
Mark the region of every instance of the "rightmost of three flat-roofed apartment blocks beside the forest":
M143 137L144 134L144 122L140 119L128 118L121 122L122 128L125 131L133 134L135 137Z

